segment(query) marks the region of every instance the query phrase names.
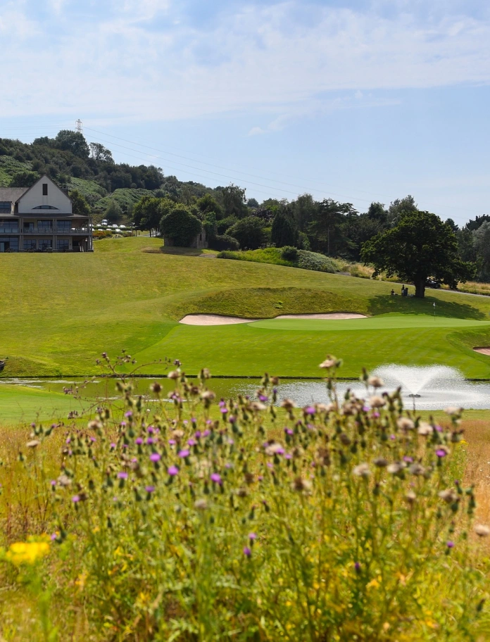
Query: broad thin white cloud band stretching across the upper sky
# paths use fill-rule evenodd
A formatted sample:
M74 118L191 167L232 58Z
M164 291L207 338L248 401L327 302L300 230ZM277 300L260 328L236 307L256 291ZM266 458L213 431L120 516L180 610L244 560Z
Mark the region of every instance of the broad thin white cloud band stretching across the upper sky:
M61 2L51 5L63 13ZM156 28L156 18L170 11L168 0L124 0L116 17L99 20L94 13L70 23L67 14L63 29L34 26L25 3L8 3L16 23L6 23L1 11L0 80L5 84L8 75L12 99L1 115L172 120L274 113L275 120L253 127L253 135L335 108L331 99L319 98L331 91L355 94L364 106L372 89L490 82L489 20L458 12L424 22L408 13L410 3L399 5L391 18L375 8L360 13L300 0L247 5L199 30L176 24L175 16ZM12 32L13 24L22 26ZM22 34L34 29L44 31L42 40L25 42ZM40 73L49 69L52 82ZM351 107L351 100L341 99L339 107Z

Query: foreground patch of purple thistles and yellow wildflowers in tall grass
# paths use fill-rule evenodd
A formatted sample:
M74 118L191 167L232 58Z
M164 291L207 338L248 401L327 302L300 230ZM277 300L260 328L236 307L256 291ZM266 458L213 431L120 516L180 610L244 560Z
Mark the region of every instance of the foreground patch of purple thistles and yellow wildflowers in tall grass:
M367 373L339 398L339 366L296 408L275 377L218 399L177 362L169 396L124 377L4 446L0 639L489 639L462 410L422 421Z

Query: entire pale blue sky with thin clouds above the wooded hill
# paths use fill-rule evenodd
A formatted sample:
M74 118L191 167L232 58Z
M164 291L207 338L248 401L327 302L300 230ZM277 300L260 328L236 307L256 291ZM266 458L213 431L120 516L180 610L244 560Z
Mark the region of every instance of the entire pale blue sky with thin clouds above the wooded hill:
M0 0L0 136L84 122L116 160L249 197L490 213L481 0Z

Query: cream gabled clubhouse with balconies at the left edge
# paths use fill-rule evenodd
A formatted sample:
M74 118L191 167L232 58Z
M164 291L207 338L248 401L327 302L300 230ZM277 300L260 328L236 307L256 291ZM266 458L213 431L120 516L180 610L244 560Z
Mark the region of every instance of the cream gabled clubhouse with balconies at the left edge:
M93 252L92 225L47 176L32 187L0 187L1 252Z

